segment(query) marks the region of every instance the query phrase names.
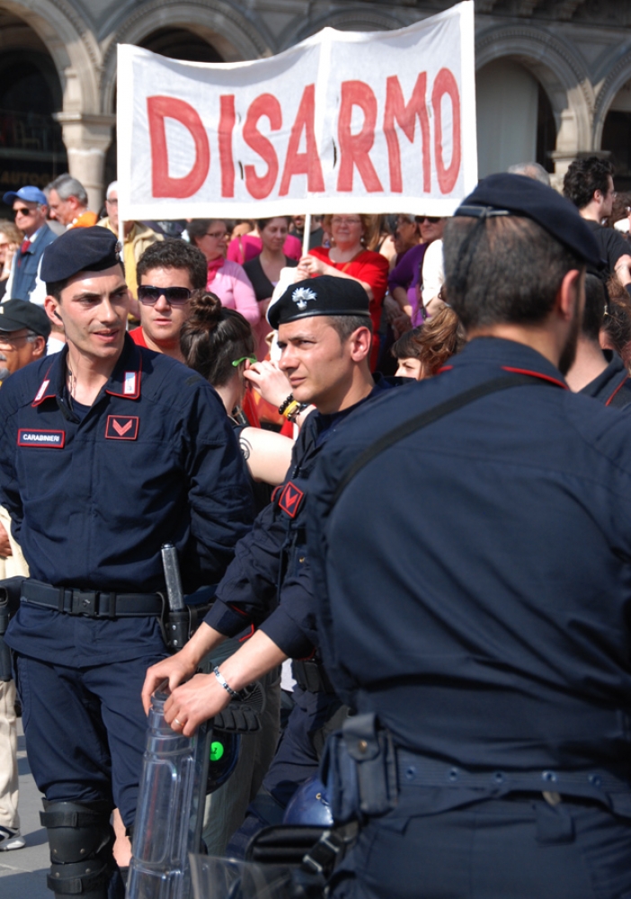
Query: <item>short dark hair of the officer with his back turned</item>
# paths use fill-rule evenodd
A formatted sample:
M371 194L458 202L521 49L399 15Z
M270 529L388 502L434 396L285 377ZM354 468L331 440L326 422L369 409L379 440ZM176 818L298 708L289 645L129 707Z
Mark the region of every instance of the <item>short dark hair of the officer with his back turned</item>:
M449 306L467 331L543 321L565 274L585 267L543 227L516 216L449 218L443 256Z

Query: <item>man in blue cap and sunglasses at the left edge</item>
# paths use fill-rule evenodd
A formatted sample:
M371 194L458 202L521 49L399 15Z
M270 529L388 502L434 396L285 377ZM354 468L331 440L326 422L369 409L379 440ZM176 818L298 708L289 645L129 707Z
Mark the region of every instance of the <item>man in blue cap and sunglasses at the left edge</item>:
M13 255L6 283L6 299L26 299L43 306L46 285L40 279L41 257L56 235L46 224L48 200L39 187L27 184L19 191L7 191L2 198L13 206L15 224L24 235L22 246Z

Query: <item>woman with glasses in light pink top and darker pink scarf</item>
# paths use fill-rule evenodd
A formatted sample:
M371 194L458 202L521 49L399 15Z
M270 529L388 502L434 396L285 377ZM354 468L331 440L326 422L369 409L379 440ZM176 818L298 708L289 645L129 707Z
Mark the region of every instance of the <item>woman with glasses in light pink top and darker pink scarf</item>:
M227 309L236 309L251 324L261 317L250 279L238 263L226 259L227 227L221 218L193 218L188 226L191 244L206 256L209 279L206 289Z

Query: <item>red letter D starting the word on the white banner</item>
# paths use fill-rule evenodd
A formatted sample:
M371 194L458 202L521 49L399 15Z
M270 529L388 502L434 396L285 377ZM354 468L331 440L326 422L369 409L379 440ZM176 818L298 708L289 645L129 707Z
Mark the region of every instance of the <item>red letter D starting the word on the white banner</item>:
M209 138L203 122L192 106L175 97L147 97L149 138L151 139L151 187L154 197L183 200L200 190L210 168ZM195 143L195 162L183 178L169 176L169 151L164 119L179 121Z

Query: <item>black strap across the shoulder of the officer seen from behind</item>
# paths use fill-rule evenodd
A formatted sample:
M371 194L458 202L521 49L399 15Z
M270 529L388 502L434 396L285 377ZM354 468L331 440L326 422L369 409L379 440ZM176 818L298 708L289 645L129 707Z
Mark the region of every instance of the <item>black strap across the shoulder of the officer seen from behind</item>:
M477 384L475 387L465 390L464 393L449 397L444 403L435 405L433 408L427 409L421 414L414 415L413 418L397 425L392 431L387 431L385 434L382 434L377 441L371 443L364 449L352 463L351 467L348 468L345 475L342 477L342 480L337 485L337 489L333 495L332 505L337 503L343 491L351 483L352 479L359 475L362 468L366 467L374 458L380 456L386 449L390 449L391 446L394 446L395 443L403 441L406 437L409 437L410 434L421 431L422 428L426 428L429 424L438 422L439 419L444 418L445 415L449 415L452 412L456 412L458 409L462 409L463 406L473 403L474 400L480 399L482 396L488 396L489 394L496 393L498 390L507 390L509 387L520 387L534 383L547 384L549 387L555 386L552 381L537 378L535 375L504 375L502 378L493 378L490 381L484 381L482 384Z

